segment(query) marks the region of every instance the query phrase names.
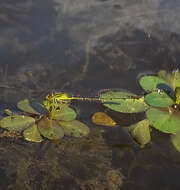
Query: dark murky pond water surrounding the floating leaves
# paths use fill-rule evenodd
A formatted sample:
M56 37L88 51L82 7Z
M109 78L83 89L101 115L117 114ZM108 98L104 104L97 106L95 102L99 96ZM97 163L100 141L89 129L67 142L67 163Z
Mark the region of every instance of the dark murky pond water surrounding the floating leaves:
M25 97L42 101L53 90L142 94L140 73L180 69L178 0L8 0L0 10L1 110ZM153 130L141 149L124 124L90 122L98 104L74 106L91 126L87 138L0 139L3 189L180 189L180 153L170 135Z

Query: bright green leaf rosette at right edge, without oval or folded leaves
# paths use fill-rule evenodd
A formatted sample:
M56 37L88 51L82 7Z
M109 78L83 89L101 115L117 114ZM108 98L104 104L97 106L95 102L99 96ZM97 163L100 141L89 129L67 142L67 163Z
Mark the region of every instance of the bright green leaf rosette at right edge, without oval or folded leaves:
M179 71L160 71L158 76L143 76L139 83L149 92L144 99L152 106L146 111L150 124L164 133L175 134L180 129Z

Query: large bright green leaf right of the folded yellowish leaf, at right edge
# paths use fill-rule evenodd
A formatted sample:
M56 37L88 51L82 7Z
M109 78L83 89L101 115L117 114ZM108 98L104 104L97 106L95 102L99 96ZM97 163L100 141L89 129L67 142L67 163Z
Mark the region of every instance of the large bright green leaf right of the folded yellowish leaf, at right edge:
M180 130L180 114L151 108L146 112L150 124L164 133L175 134Z

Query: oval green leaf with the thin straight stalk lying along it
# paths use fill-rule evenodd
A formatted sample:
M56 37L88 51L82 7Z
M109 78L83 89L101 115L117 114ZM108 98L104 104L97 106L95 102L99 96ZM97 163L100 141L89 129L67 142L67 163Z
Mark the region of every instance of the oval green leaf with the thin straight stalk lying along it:
M144 99L123 91L107 91L100 95L101 102L111 110L122 113L138 113L148 109Z

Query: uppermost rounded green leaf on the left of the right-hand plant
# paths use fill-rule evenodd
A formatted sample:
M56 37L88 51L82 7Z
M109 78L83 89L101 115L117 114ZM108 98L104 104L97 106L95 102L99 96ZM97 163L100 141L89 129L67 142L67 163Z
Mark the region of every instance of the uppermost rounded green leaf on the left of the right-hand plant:
M158 85L160 84L168 85L168 83L165 80L153 75L147 75L147 76L141 77L139 79L139 84L146 92L157 90Z

